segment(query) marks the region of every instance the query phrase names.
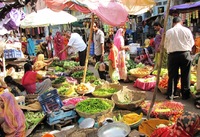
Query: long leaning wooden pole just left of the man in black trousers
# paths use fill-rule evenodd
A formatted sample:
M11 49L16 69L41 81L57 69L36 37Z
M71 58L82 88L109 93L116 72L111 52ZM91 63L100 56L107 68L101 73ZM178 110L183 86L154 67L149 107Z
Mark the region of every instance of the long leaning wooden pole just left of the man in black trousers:
M160 72L161 72L162 59L163 59L163 54L164 54L164 41L165 41L166 26L167 26L168 16L169 16L170 3L171 3L171 0L168 0L167 1L167 10L166 10L165 19L164 19L164 32L162 34L162 40L161 40L161 44L160 44L160 60L158 62L158 72L157 72L157 78L156 78L156 86L155 86L155 90L154 90L154 93L153 93L153 98L151 100L151 105L150 105L149 111L147 113L147 119L150 118L150 114L151 114L152 108L153 108L155 100L156 100L156 94L158 92L158 84L159 84L159 81L160 81Z

